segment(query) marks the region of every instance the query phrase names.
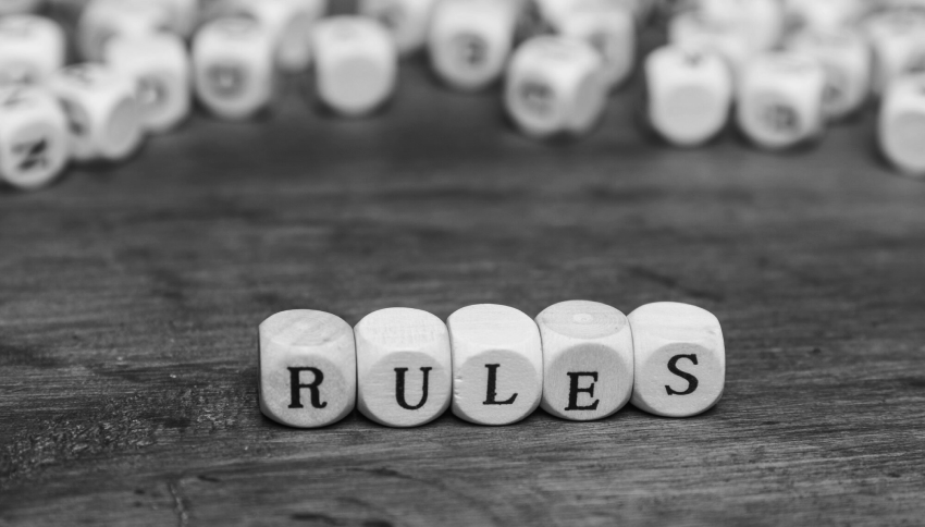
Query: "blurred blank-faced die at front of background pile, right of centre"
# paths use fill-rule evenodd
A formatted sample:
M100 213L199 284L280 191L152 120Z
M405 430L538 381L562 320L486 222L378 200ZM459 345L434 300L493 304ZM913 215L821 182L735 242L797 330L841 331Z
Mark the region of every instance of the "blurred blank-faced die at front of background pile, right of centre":
M645 59L649 122L666 140L698 146L716 136L732 107L732 75L711 52L676 46L656 49Z

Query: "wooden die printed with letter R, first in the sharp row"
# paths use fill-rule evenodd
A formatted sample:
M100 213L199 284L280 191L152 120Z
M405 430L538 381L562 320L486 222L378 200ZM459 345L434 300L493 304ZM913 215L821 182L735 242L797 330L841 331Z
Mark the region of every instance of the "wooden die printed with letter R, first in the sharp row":
M323 311L278 312L259 328L260 410L276 422L317 428L353 412L357 355L350 326Z

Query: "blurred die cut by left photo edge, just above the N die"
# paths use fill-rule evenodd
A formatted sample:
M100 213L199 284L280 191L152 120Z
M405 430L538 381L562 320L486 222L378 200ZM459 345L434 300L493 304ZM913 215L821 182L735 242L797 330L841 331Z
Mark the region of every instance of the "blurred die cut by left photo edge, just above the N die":
M0 17L0 86L41 84L64 64L64 32L30 14Z

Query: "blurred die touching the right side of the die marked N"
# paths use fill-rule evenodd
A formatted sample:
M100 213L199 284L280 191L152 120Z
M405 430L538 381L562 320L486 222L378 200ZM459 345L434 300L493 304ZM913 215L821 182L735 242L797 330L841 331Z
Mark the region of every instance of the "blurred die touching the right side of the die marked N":
M86 63L60 70L49 86L67 115L74 159L119 161L140 146L144 134L131 77Z

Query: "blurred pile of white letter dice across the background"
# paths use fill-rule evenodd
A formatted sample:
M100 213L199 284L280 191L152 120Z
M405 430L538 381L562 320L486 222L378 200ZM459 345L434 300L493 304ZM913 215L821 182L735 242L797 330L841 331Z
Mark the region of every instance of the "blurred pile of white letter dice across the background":
M357 15L325 16L326 1L87 0L82 62L65 65L62 26L29 13L41 0L0 0L0 180L38 188L70 160L126 159L194 95L249 119L281 74L309 68L324 105L368 114L395 89L399 58L424 48L455 89L503 78L523 133L581 135L653 19L668 44L644 59L644 107L667 142L702 145L735 121L755 145L788 148L873 93L884 155L925 173L923 0L359 0Z

